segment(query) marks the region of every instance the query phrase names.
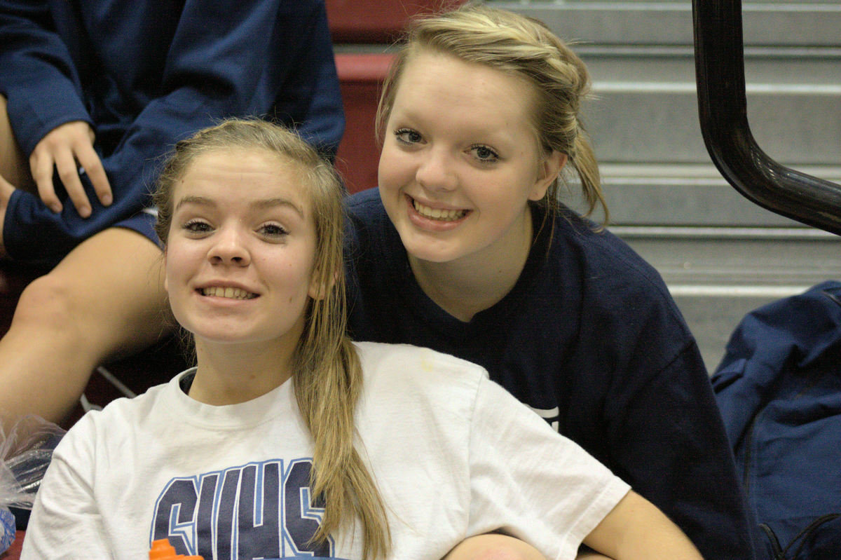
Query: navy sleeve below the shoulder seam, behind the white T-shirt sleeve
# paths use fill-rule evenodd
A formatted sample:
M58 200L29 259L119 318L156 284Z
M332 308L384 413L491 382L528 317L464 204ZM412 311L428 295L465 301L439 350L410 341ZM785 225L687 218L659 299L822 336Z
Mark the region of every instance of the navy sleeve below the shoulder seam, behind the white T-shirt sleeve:
M606 398L611 468L704 557L750 557L733 453L696 343L688 341L666 366L639 379L644 383L626 383Z

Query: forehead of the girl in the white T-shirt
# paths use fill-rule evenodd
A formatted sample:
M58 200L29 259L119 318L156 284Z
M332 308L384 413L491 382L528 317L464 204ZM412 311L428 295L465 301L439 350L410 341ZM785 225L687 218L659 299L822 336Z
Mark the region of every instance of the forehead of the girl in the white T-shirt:
M196 156L175 183L174 203L202 194L223 200L288 198L301 209L309 202L302 166L262 149L230 148Z

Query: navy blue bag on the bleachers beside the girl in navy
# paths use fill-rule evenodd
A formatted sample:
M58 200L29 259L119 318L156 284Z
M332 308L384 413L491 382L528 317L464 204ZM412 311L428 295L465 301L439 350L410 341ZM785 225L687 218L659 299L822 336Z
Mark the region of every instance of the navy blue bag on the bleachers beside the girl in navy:
M841 558L841 283L754 310L712 377L758 557Z

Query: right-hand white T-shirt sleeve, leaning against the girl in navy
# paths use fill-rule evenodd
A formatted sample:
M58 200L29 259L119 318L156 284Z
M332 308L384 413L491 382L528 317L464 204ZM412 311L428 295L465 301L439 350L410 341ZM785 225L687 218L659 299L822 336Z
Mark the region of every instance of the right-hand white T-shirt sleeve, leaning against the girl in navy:
M479 385L469 452L469 534L502 531L548 558L574 558L584 537L630 489L486 379Z

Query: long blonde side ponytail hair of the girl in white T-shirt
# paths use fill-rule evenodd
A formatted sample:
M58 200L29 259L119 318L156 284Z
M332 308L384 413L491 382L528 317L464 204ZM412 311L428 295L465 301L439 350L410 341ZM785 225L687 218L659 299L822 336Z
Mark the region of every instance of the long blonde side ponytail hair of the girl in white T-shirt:
M353 421L362 390L362 366L346 336L345 277L342 262L342 189L330 163L297 135L260 119L229 119L177 143L158 178L156 232L166 245L172 225L173 191L198 156L211 151L266 151L283 165L294 165L309 187L315 220L316 285L309 300L304 334L293 362L295 397L314 441L312 495L325 513L314 542L362 521L363 557L388 555L391 537L383 501L354 446Z

